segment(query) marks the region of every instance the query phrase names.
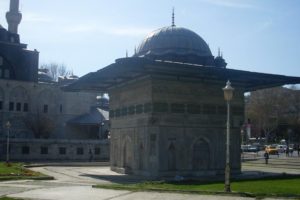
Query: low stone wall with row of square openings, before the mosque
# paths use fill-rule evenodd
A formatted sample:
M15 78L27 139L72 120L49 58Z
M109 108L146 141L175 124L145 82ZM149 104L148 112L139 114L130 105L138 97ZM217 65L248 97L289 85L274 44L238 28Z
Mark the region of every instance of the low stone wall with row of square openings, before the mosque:
M109 140L10 139L11 161L108 161ZM0 139L6 160L7 140Z

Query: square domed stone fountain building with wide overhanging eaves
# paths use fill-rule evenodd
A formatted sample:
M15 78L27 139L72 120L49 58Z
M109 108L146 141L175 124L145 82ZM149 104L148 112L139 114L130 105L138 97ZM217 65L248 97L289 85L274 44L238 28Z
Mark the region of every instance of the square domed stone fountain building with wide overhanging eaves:
M224 174L226 102L230 80L230 165L240 173L240 127L244 93L300 83L298 77L226 68L197 33L171 26L157 29L132 57L88 73L67 86L110 96L111 169L150 177Z

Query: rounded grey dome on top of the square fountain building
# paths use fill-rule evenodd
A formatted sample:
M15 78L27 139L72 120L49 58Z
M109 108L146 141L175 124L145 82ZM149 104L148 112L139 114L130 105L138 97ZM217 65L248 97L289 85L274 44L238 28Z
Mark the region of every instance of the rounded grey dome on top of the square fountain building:
M198 34L176 26L150 33L134 56L200 64L210 64L213 60L208 45Z

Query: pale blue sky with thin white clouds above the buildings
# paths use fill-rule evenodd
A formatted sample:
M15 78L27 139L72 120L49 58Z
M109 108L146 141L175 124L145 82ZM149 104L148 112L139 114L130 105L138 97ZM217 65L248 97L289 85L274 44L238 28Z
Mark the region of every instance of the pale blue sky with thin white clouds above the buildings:
M175 24L200 35L227 68L300 76L299 0L20 0L21 42L40 65L82 76L125 57L151 31ZM7 28L9 0L0 0Z

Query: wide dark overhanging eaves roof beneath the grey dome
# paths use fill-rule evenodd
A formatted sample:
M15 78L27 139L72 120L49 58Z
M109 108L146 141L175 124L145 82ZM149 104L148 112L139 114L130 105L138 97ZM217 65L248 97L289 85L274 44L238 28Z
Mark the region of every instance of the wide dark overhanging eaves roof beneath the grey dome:
M97 72L89 73L65 89L107 91L109 87L121 84L141 76L162 75L195 81L226 82L240 89L253 91L258 89L300 83L299 77L265 74L236 69L199 66L170 61L153 61L144 58L124 58Z

